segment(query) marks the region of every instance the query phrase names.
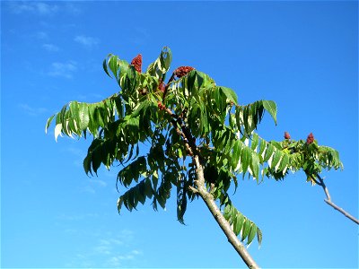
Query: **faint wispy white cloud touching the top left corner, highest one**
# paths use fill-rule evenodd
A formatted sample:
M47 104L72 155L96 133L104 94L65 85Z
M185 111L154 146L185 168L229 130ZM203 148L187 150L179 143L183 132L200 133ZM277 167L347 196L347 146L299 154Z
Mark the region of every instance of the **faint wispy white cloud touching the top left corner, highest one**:
M51 15L57 13L57 4L48 4L42 2L11 2L10 9L13 13L35 13L39 15Z

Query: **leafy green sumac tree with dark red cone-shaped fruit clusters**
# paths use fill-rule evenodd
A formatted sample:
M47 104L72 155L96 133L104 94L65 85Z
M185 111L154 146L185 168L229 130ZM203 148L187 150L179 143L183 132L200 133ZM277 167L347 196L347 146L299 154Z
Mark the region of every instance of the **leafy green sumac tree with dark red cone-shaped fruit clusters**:
M180 223L188 201L202 199L245 264L257 268L243 244L256 237L260 244L262 233L232 204L229 188L237 188L240 175L258 182L282 180L300 169L308 181L324 187L322 169L342 168L338 152L319 145L312 134L306 141L285 133L283 141L267 142L256 129L265 111L276 123L274 101L240 105L232 89L190 66L175 69L165 82L170 65L166 47L145 72L141 55L128 64L110 54L103 68L117 80L119 91L97 103L69 102L48 118L46 130L55 118L56 140L60 134L92 134L83 161L86 174L97 175L101 165L123 166L117 186L127 190L118 198L118 213L146 200L154 210L164 208L174 187ZM141 143L150 144L148 152L140 154Z

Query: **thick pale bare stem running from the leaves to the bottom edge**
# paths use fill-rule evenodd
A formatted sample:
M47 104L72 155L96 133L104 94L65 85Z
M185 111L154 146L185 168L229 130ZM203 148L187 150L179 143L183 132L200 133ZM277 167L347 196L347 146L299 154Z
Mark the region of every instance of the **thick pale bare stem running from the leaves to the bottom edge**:
M204 169L199 162L198 156L197 155L194 156L193 159L195 160L197 167L196 185L197 185L198 195L204 200L207 208L214 216L215 221L217 221L219 227L223 230L223 233L227 237L228 241L231 243L232 247L234 247L237 253L241 256L243 262L249 268L259 268L257 263L254 261L253 257L250 256L250 253L248 252L247 248L244 247L240 239L238 239L235 233L233 232L230 223L225 220L217 204L215 204L215 199L213 195L208 193L208 191L206 190Z

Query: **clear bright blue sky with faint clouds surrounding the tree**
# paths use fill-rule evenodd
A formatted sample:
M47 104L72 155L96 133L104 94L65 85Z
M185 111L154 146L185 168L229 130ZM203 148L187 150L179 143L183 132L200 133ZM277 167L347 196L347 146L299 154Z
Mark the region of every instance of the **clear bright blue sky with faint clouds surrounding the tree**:
M313 133L344 171L325 173L333 201L358 216L357 2L2 2L1 266L243 267L201 201L187 226L150 203L118 215L117 167L88 178L91 142L44 133L70 100L98 101L118 86L109 53L144 66L163 46L172 70L192 65L235 90L241 104L275 100L281 140ZM53 128L53 126L52 126ZM240 181L233 203L263 232L249 250L264 268L358 267L358 229L323 202L302 172L283 182Z

